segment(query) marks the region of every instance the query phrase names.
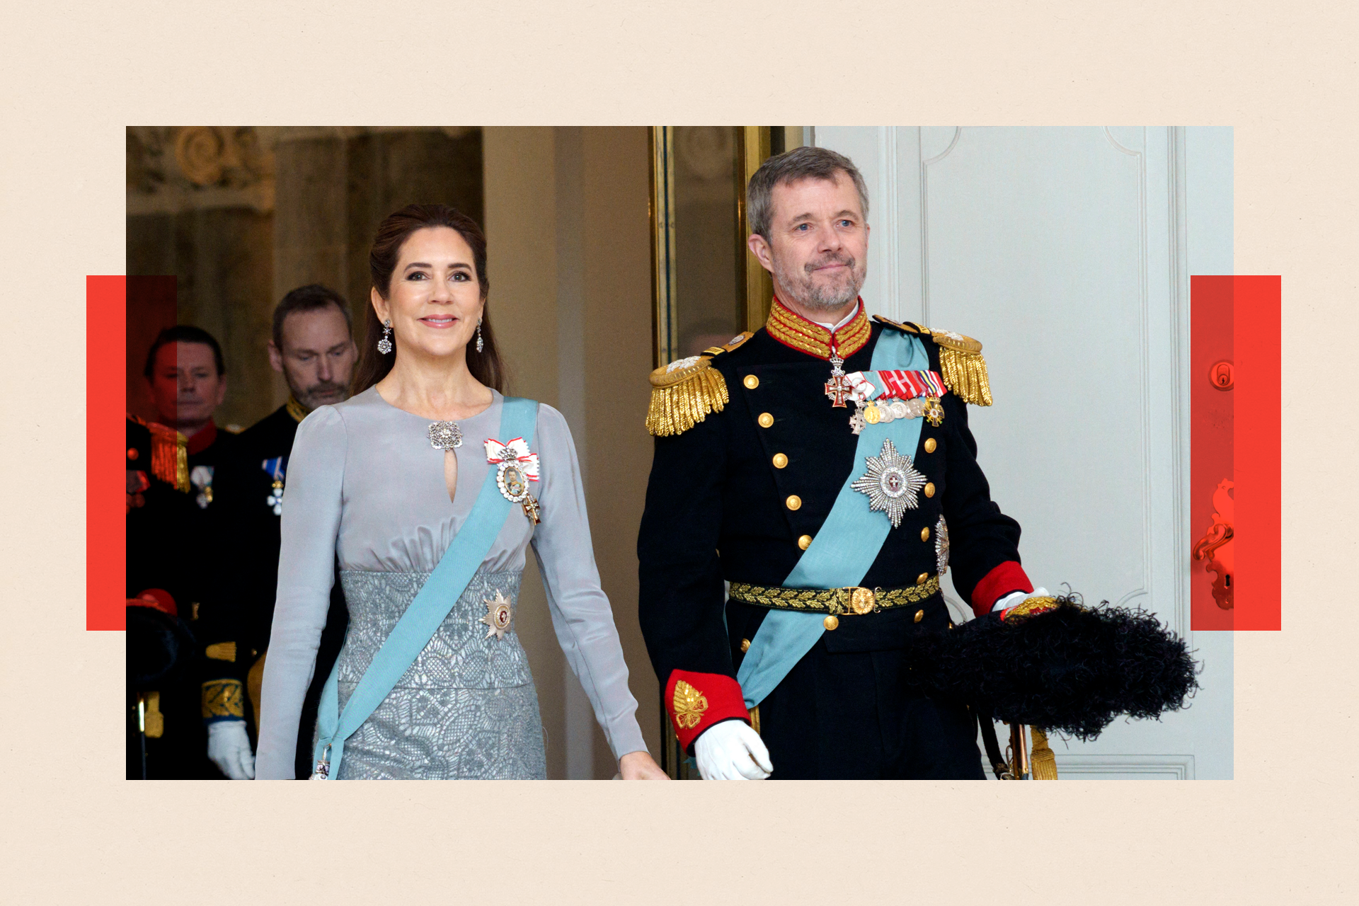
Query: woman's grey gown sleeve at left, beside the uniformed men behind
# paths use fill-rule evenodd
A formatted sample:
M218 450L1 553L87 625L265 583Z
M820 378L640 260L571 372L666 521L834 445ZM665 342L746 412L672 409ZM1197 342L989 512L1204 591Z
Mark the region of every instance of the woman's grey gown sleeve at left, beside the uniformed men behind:
M322 406L303 418L288 458L279 596L265 657L255 777L294 780L302 700L315 670L334 583L347 452L344 418Z

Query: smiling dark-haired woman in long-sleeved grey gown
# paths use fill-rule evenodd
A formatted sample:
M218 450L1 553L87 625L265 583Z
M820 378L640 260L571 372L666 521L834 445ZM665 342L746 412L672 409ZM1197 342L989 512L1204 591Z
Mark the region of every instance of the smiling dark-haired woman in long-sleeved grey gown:
M512 440L495 436L504 398L485 318L485 238L477 224L443 205L404 208L378 227L370 269L372 304L359 393L307 416L289 458L260 778L294 778L298 721L336 558L349 606L336 667L342 710L472 512L496 450L487 441ZM454 448L444 436L447 448L434 446L434 422L455 422L462 443ZM529 509L511 507L431 641L345 740L337 780L545 777L537 693L514 626L529 546L557 638L621 776L666 777L637 727L565 420L540 405L531 437L541 524ZM487 493L496 493L495 485Z

